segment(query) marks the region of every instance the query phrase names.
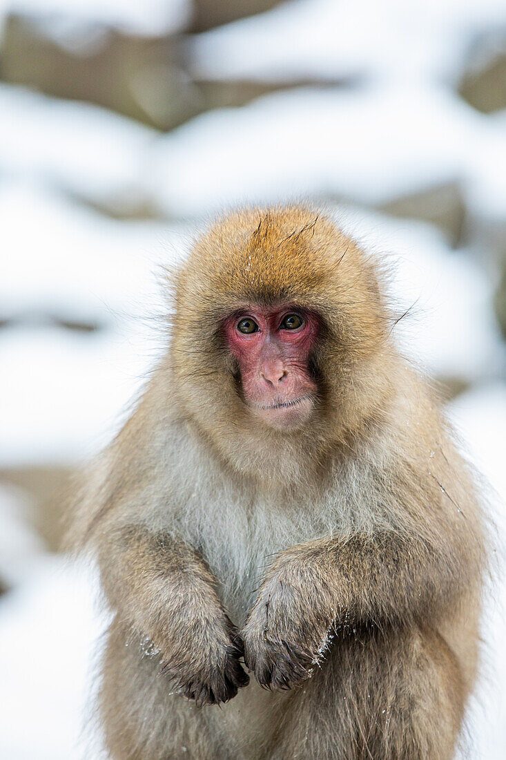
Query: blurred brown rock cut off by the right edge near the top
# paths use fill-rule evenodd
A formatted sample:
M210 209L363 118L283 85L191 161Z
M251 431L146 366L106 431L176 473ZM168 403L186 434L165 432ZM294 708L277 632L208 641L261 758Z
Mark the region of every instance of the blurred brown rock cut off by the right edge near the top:
M506 30L483 36L474 46L459 93L473 108L506 108Z

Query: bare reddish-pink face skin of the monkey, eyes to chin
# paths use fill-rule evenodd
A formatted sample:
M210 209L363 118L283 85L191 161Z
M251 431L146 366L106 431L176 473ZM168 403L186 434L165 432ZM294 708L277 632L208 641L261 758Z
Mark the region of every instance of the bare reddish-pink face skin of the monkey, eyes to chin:
M305 422L317 394L308 366L318 336L316 316L296 307L252 307L228 318L224 332L251 411L277 428Z

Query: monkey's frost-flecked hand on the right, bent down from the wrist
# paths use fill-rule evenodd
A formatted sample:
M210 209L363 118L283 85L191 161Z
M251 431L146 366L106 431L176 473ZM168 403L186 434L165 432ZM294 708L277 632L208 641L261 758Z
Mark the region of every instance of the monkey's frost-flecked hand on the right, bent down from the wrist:
M332 595L307 559L296 549L280 555L242 631L245 663L267 689L291 689L311 677L332 637Z

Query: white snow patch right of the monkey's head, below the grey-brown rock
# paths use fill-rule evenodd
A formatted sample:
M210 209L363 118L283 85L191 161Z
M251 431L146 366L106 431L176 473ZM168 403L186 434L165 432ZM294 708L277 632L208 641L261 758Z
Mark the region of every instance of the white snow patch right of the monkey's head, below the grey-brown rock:
M362 247L387 263L402 353L438 378L476 382L499 372L504 348L492 312L493 287L471 250L451 250L429 224L349 208L334 216Z

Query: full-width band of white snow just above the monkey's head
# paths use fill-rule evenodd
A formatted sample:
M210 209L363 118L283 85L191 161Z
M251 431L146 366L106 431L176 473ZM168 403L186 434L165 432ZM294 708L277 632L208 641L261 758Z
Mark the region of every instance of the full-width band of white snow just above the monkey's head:
M504 119L443 87L301 87L159 136L98 106L3 84L0 176L169 217L305 196L378 205L459 181L476 214L502 219Z

